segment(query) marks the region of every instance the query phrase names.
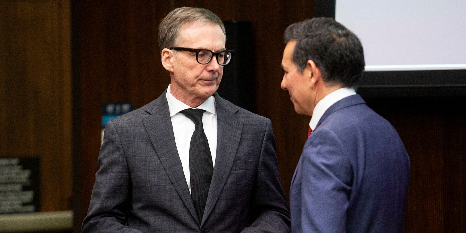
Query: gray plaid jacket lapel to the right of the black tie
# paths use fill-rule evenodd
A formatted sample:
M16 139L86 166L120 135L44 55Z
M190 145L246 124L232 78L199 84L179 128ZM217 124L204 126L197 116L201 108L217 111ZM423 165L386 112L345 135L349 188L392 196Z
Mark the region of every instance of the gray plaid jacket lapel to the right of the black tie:
M213 206L219 199L220 192L230 174L233 160L240 143L244 120L235 115L239 110L235 105L228 103L217 93L214 94L217 109L217 155L212 173L212 182L207 196L206 208L202 224L212 212Z

